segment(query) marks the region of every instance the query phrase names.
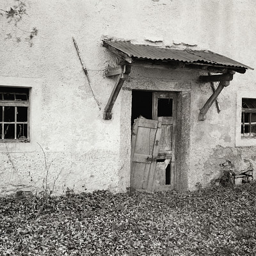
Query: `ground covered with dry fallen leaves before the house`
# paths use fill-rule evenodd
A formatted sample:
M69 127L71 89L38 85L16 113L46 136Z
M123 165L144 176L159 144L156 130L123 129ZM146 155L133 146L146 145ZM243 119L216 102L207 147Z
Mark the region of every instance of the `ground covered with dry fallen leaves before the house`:
M256 255L256 185L0 198L0 255Z

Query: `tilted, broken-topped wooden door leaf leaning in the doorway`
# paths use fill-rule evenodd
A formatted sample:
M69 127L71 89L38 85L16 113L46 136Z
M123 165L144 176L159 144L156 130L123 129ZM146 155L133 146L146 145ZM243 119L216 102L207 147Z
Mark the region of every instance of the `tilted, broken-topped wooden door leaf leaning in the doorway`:
M161 138L161 118L137 118L132 127L131 188L154 190L154 174Z

